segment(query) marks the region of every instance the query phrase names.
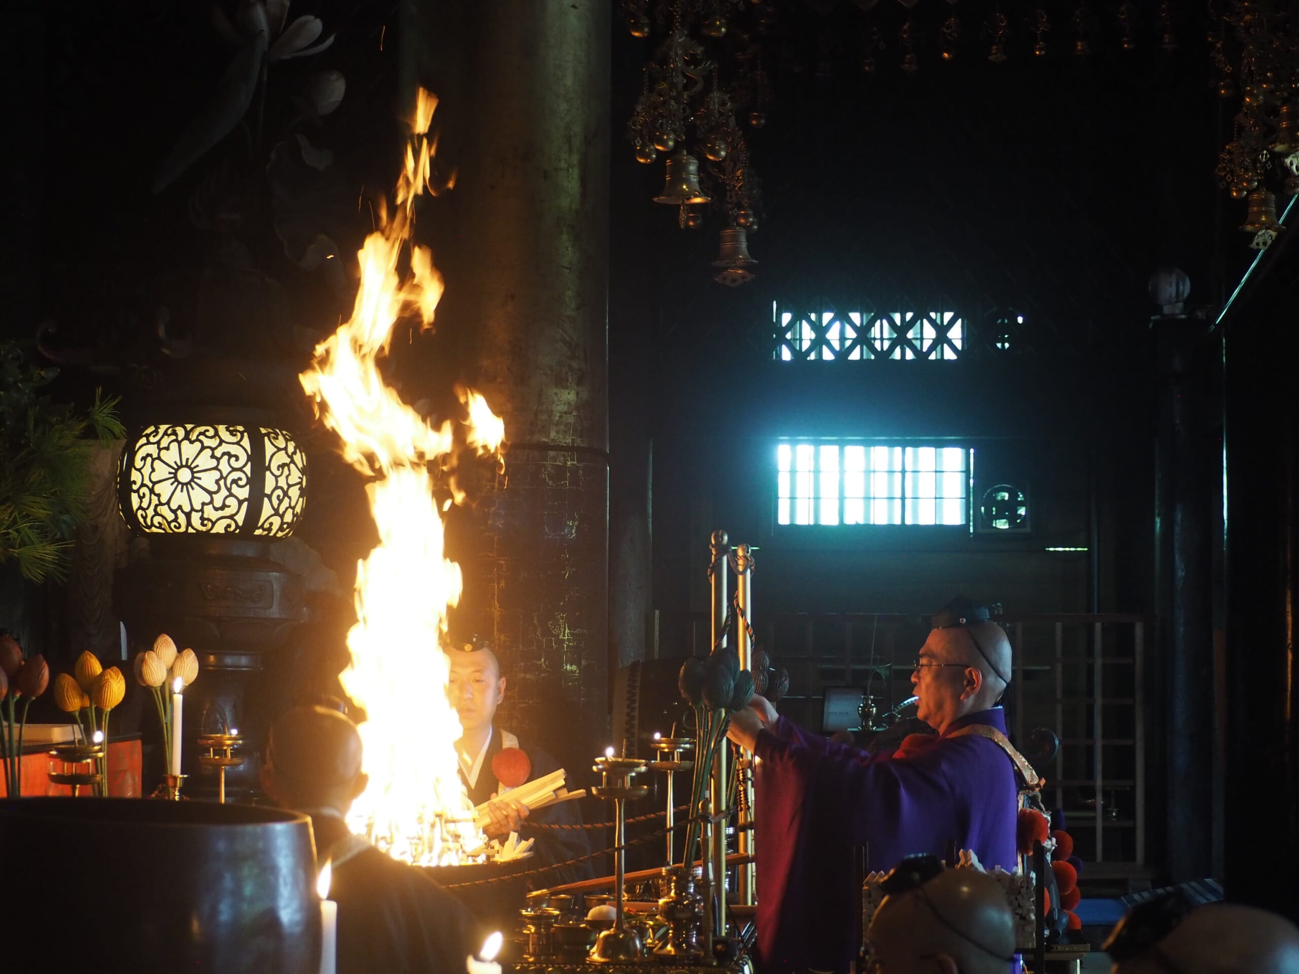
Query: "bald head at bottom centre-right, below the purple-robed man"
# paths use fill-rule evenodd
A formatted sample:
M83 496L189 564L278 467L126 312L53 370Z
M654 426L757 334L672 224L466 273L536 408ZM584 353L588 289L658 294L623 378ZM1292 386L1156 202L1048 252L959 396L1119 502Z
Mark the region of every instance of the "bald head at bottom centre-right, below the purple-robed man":
M920 890L885 901L866 932L883 974L912 970L1005 974L1015 917L1002 884L973 869L948 869Z

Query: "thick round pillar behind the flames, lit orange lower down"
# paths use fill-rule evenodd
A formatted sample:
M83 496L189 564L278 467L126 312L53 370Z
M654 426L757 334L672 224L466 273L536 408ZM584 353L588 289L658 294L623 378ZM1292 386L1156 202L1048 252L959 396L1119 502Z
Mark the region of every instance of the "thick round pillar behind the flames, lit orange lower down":
M570 770L608 738L607 0L403 13L404 74L440 101L455 190L421 213L448 358L504 417L508 486L472 516L452 617L498 649L501 722Z

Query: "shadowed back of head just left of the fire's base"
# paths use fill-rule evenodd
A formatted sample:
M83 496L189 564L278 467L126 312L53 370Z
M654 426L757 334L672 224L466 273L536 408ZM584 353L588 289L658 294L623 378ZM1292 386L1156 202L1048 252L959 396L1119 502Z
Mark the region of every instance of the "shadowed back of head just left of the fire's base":
M361 735L326 706L295 706L270 729L262 787L290 808L349 805L364 790Z

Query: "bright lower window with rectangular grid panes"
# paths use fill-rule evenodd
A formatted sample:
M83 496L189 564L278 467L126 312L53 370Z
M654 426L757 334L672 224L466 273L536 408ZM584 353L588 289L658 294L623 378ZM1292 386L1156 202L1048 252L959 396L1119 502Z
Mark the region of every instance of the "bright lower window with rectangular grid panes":
M776 448L778 525L964 525L969 451L791 440Z

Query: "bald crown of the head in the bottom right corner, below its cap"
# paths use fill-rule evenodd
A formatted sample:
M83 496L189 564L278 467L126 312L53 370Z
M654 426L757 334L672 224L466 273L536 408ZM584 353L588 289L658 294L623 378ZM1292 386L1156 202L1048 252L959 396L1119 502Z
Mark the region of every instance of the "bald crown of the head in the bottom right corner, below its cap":
M1115 974L1299 974L1299 929L1267 910L1213 904L1191 910L1156 944L1115 964Z

